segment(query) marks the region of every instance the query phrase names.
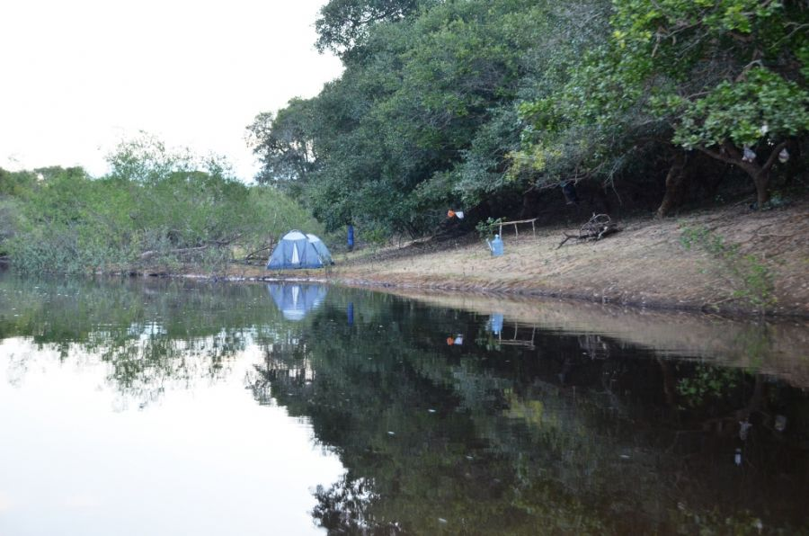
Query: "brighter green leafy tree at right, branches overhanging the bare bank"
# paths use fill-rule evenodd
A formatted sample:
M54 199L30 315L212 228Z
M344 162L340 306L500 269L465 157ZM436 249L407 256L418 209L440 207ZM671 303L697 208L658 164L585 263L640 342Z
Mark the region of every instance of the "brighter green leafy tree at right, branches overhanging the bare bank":
M654 135L742 169L763 205L782 149L809 132L807 23L794 1L616 0L609 39L564 91L522 108L530 143L515 171L592 168ZM565 141L577 131L597 143Z

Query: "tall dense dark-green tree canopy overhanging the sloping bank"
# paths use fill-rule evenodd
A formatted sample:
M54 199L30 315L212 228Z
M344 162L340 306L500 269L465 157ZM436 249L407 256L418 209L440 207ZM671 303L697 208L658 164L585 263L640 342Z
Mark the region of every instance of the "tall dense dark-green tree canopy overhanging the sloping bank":
M258 178L388 233L712 161L763 203L809 133L807 23L797 0L331 0L317 47L345 70L257 116Z

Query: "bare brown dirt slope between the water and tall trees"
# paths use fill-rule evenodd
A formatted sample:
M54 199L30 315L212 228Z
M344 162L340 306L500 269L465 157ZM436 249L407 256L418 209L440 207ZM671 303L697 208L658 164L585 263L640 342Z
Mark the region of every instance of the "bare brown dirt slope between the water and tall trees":
M296 275L351 285L733 313L754 312L757 306L751 298L763 296L775 299L770 314L809 316L809 201L778 210L753 212L737 205L618 225L620 232L599 242L569 241L562 247L563 233L578 229L538 228L532 235L529 225L520 228L519 236L503 229L501 257L493 257L477 237L428 239L376 252L366 248L335 255L329 271ZM722 261L704 248L686 249L681 243L685 228L706 228L725 244L738 244L738 253ZM756 290L761 278L752 272L753 266L771 274L772 290ZM243 270L240 275L265 278L268 272Z

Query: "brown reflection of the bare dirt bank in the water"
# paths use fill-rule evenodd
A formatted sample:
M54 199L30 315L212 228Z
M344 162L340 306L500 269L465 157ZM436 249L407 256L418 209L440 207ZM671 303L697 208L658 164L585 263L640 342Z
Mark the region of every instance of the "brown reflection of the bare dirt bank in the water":
M518 326L605 335L653 350L778 376L809 387L809 320L740 321L689 313L646 311L592 303L503 298L456 292L403 291L398 296L481 315L502 315L505 341Z

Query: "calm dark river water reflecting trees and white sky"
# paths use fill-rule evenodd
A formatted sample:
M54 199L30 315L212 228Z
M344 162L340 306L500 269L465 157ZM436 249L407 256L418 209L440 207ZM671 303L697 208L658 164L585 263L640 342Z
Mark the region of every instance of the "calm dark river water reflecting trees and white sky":
M809 328L0 274L0 534L809 531Z

